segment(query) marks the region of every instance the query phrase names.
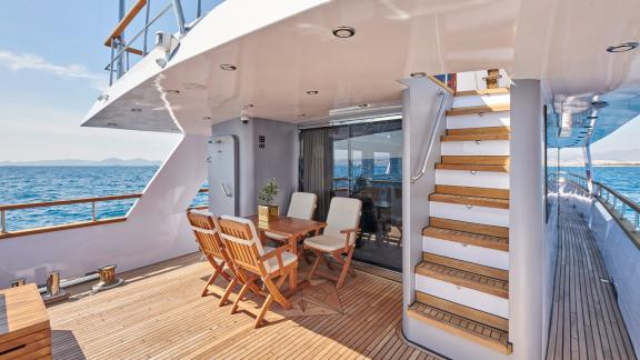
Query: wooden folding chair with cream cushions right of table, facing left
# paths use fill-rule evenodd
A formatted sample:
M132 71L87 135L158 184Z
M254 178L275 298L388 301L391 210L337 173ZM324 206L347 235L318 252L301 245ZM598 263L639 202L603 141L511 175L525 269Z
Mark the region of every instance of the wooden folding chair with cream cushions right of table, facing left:
M356 248L356 236L359 231L360 216L362 213L362 201L351 198L333 198L329 204L329 214L327 216L327 227L320 236L311 237L304 240L304 249L312 250L317 258L309 279L316 273L336 281L336 288L340 289L344 283L347 273L351 266L353 249ZM320 262L326 262L324 253L329 253L336 261L342 266L339 277L329 272L318 271ZM342 259L344 256L344 259Z

